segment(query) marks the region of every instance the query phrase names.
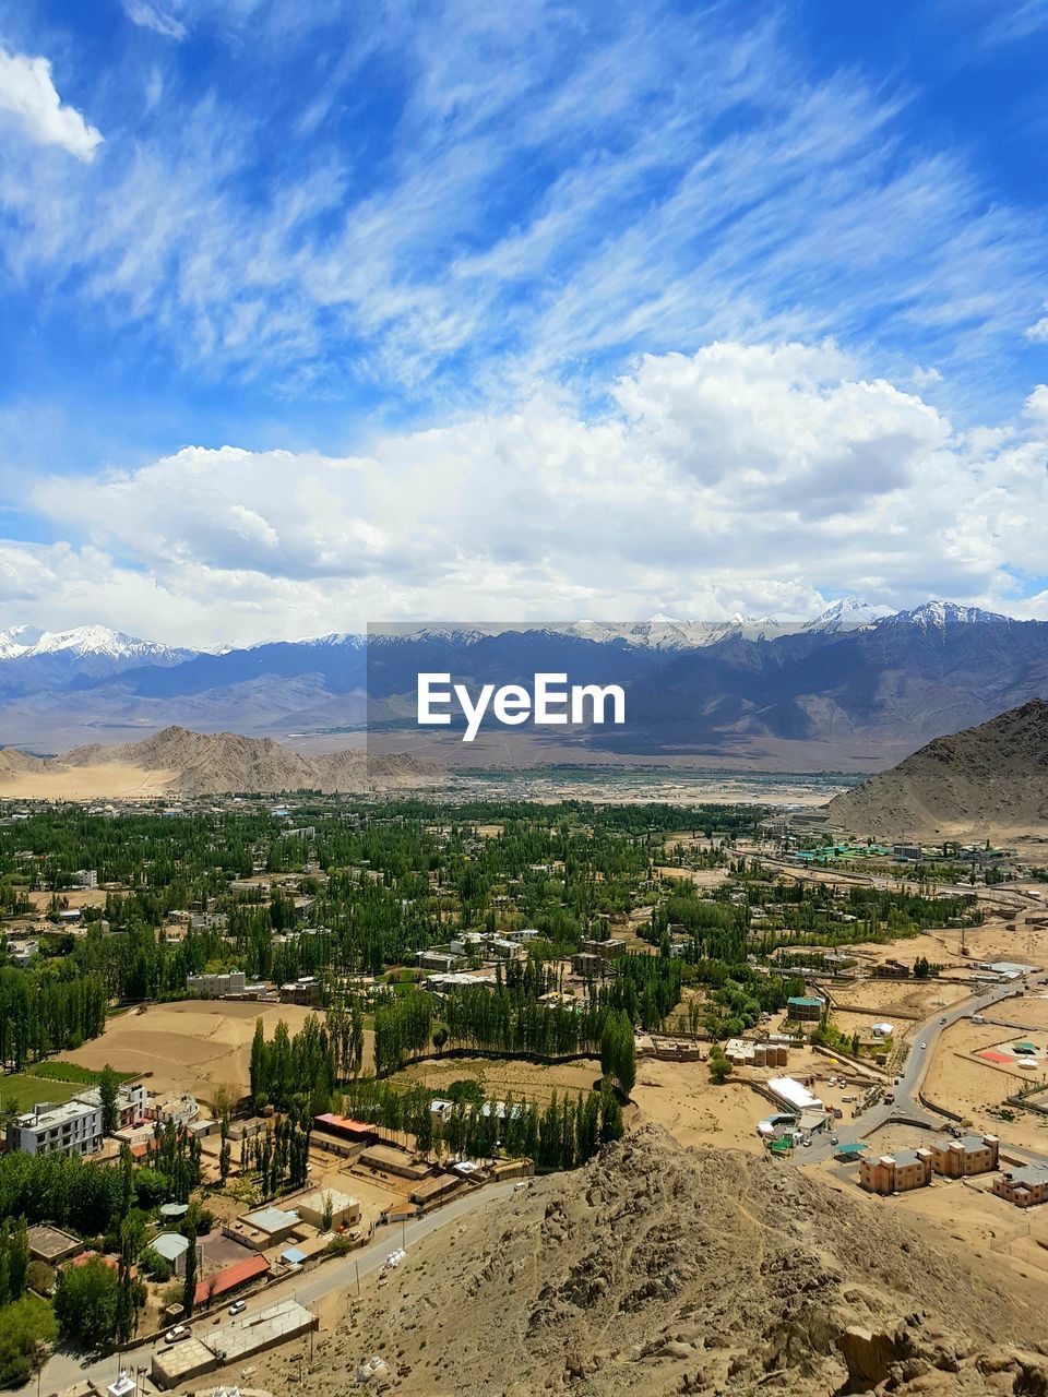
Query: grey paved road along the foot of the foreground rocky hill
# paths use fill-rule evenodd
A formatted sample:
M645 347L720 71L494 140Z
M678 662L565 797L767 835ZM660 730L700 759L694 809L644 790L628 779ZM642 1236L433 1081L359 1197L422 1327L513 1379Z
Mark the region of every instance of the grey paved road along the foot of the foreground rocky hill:
M338 1261L324 1261L313 1271L291 1275L284 1281L278 1281L275 1285L267 1285L247 1302L247 1309L245 1310L242 1320L250 1319L252 1315L257 1315L261 1309L268 1309L270 1305L275 1305L278 1301L296 1299L299 1305L309 1306L323 1299L326 1295L331 1295L333 1291L355 1291L358 1274L361 1280L367 1275L373 1275L377 1270L380 1270L388 1253L395 1250L398 1246L407 1246L409 1252L412 1246L416 1246L423 1238L429 1236L430 1232L436 1232L439 1228L447 1227L449 1222L457 1221L485 1203L496 1203L509 1197L514 1189L516 1183L496 1183L489 1185L488 1187L474 1189L470 1193L464 1193L453 1203L449 1203L446 1207L426 1214L426 1217L415 1218L402 1227L400 1222L395 1222L390 1227L379 1228L374 1234L374 1241L367 1246L361 1248L359 1252L354 1252L351 1256L342 1257ZM215 1322L214 1316L207 1320L197 1322L194 1329L201 1338L207 1338L208 1330L217 1327L217 1323L229 1323L229 1316L225 1309L218 1313L218 1322ZM148 1368L151 1354L152 1351L147 1347L129 1351L123 1355L123 1359L120 1359L116 1354L98 1361L84 1361L73 1354L52 1354L43 1366L39 1390L43 1394L50 1394L61 1391L63 1387L71 1387L73 1383L84 1379L91 1379L99 1386L106 1386L113 1382L122 1366L129 1372L133 1372L136 1366ZM155 1391L157 1389L147 1380L145 1390Z

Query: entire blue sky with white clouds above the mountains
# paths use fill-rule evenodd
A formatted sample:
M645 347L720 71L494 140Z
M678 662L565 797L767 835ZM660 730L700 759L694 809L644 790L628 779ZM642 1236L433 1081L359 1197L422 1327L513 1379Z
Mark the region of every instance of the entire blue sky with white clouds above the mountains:
M1048 619L1048 0L0 0L0 627Z

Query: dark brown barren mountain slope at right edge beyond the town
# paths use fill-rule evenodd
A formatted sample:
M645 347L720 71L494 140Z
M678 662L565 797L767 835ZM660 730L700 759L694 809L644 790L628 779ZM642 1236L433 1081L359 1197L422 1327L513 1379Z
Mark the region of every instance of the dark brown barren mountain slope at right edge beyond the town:
M834 826L891 835L1005 837L1048 827L1048 703L1031 698L936 738L827 806Z

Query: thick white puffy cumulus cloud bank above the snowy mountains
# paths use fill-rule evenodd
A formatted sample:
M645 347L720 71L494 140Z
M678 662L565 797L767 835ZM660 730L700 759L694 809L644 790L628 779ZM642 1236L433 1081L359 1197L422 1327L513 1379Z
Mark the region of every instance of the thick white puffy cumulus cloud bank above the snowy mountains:
M71 542L13 564L0 599L22 619L28 592L53 623L88 588L81 619L145 615L191 644L381 619L803 616L845 591L992 604L1009 569L1042 566L1047 393L961 436L833 345L646 356L602 415L546 393L366 455L187 447L41 481L27 503Z

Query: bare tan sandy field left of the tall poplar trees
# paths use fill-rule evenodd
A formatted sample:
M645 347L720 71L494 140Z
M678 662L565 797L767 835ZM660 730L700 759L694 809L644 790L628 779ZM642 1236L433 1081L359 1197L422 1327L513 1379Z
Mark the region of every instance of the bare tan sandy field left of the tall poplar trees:
M243 1095L250 1087L254 1021L271 1037L282 1018L293 1034L310 1010L302 1004L254 1004L232 1000L183 1000L152 1004L145 1013L110 1018L101 1038L66 1053L82 1067L152 1073L154 1091L191 1091L207 1099L224 1085Z

